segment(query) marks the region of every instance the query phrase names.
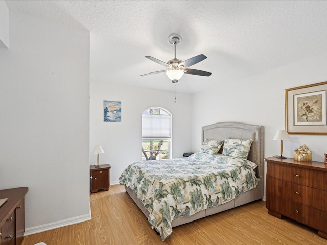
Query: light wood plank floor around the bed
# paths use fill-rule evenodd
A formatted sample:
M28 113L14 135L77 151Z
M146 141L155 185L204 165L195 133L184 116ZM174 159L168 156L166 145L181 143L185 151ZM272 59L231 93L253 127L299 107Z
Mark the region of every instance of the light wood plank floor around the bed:
M90 195L92 220L26 236L22 245L134 244L326 244L317 231L267 213L264 201L173 228L161 241L121 185ZM327 224L327 220L326 220Z

